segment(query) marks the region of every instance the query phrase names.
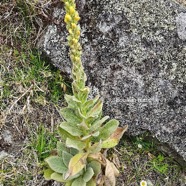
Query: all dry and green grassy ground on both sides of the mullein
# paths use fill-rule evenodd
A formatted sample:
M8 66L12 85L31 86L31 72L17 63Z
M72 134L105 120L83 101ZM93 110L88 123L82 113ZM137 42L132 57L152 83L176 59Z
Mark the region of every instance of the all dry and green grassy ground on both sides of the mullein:
M60 72L43 60L36 43L52 21L59 1L10 0L0 3L0 185L57 185L44 181L43 159L56 144L62 120L65 83ZM68 83L67 83L68 85ZM44 126L44 127L43 127ZM140 139L140 140L139 140ZM143 138L124 140L111 153L121 164L119 185L184 185L184 171ZM142 144L142 149L138 148ZM162 155L164 160L158 159ZM155 166L157 165L158 166ZM168 167L168 170L167 170ZM159 169L158 169L159 168Z

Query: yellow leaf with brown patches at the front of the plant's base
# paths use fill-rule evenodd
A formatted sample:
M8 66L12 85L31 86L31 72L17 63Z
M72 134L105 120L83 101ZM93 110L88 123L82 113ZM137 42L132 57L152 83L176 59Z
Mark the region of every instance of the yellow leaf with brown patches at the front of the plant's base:
M69 162L65 179L78 174L86 166L87 153L79 153L73 156Z

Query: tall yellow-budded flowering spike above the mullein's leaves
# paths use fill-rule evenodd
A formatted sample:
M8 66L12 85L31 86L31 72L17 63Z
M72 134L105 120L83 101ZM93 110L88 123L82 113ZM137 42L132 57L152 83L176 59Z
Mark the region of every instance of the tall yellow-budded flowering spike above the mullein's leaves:
M74 0L63 0L65 3L65 23L66 28L69 32L68 44L70 47L70 59L72 61L72 74L74 74L74 84L76 89L78 89L78 95L73 90L74 95L79 99L82 97L81 94L84 92L86 75L81 62L81 45L79 43L80 37L80 27L78 26L78 21L80 20L79 14L76 11ZM80 86L81 85L81 86Z

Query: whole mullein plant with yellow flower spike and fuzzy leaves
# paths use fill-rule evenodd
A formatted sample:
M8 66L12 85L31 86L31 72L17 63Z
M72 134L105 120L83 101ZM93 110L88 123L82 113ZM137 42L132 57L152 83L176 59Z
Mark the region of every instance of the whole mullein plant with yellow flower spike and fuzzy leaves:
M57 143L57 155L45 159L49 168L44 171L44 177L65 183L65 186L115 186L119 171L106 158L106 151L119 143L127 126L118 127L117 120L102 117L103 102L99 96L88 99L90 90L85 85L87 78L79 43L80 17L75 0L63 0L63 3L73 95L65 95L68 106L60 111L64 121L58 128L62 140Z

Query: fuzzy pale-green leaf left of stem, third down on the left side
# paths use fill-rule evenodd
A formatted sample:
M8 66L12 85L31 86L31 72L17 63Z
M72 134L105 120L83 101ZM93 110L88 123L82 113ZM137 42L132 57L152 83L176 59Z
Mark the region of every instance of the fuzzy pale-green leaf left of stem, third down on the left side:
M82 135L82 132L80 129L78 129L78 126L74 126L72 125L71 123L69 122L62 122L60 127L63 129L63 130L66 130L68 133L70 133L72 136L78 136L80 137Z

